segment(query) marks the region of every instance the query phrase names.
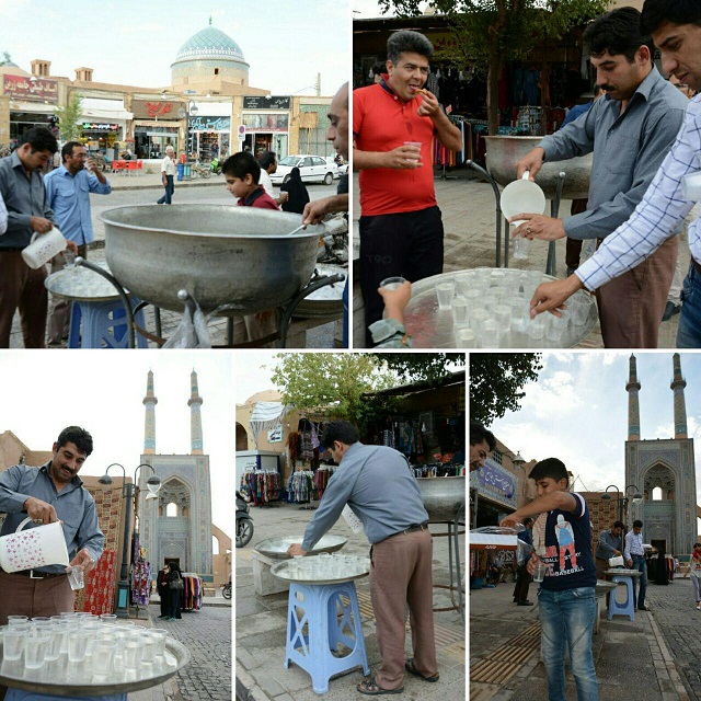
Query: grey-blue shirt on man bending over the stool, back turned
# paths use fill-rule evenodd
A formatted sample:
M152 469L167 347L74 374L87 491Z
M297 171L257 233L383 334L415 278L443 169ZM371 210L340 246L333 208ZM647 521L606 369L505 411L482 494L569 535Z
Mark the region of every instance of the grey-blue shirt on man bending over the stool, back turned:
M314 547L338 520L346 504L363 521L371 543L428 520L406 458L387 446L355 443L346 450L329 480L314 517L307 525L302 550Z

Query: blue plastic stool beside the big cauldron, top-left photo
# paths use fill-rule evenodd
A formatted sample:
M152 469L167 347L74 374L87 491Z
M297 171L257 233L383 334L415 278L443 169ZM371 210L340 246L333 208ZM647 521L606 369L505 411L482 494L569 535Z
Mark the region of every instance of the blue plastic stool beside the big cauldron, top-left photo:
M141 300L130 295L129 302L134 309ZM146 327L143 310L137 312L135 321L142 329ZM126 348L127 330L127 315L120 299L104 302L74 301L70 312L68 347ZM148 348L146 338L139 333L136 334L136 345L138 348Z

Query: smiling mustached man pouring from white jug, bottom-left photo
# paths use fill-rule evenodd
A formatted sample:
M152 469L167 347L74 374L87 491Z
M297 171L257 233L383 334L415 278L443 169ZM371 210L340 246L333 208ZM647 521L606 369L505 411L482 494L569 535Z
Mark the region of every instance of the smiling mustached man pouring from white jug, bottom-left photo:
M104 549L92 495L78 476L92 452L92 437L79 426L65 428L53 447L54 457L41 468L16 464L0 473L0 510L8 514L0 535L16 530L28 515L35 521L60 520L70 565L90 572ZM73 610L73 591L66 567L0 572L0 624L8 614L58 616Z

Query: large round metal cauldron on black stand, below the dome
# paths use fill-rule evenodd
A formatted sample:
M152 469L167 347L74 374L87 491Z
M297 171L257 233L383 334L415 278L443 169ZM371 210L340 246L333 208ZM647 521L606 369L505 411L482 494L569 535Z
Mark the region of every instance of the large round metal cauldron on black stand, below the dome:
M138 205L105 211L112 274L141 299L182 311L187 290L211 312L274 309L309 281L323 225L285 234L300 216L221 205ZM220 310L221 311L221 310Z

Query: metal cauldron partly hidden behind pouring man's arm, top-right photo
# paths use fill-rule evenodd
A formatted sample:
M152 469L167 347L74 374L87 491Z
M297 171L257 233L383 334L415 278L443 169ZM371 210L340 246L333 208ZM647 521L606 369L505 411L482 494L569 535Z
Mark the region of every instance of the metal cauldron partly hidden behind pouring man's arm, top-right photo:
M486 169L490 175L504 186L516 180L516 163L541 141L539 136L487 136L485 139ZM589 196L593 158L594 154L588 153L567 161L545 162L536 175L536 182L542 187L545 197L553 199L559 174L564 172L562 197L586 199Z

